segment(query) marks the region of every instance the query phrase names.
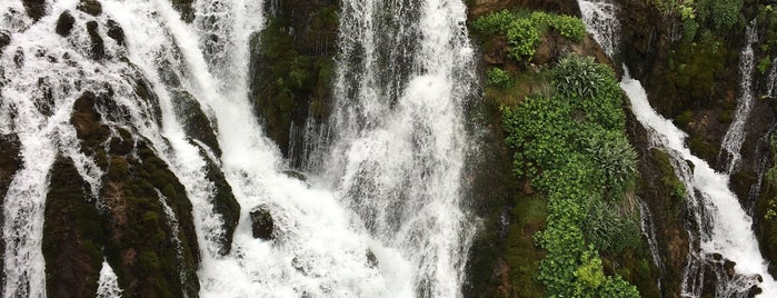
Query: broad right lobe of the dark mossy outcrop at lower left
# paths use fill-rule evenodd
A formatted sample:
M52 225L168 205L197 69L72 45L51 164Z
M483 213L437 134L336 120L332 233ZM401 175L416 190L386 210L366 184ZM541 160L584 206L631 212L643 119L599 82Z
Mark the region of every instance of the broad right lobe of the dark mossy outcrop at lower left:
M113 156L104 176L101 195L111 222L108 260L130 296L197 297L199 250L186 190L145 141L137 152L140 159ZM179 235L167 224L159 193L173 210Z

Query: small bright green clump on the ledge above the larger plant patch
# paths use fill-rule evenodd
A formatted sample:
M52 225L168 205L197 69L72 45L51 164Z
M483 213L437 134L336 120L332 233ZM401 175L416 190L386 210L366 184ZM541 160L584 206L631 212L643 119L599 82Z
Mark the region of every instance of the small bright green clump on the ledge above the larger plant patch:
M572 41L586 36L586 26L579 18L544 11L501 10L476 19L472 29L479 33L507 38L509 57L518 61L531 58L542 36L549 30Z

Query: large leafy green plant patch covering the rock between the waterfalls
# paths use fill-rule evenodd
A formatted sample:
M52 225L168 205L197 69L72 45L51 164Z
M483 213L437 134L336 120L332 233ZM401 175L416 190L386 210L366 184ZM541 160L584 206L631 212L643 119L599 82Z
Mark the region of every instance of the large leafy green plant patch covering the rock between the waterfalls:
M514 172L547 198L547 226L535 235L547 250L537 279L550 297L638 297L621 277L605 275L599 257L640 241L625 203L636 152L626 139L615 74L576 56L550 73L555 93L502 108L506 141L516 149Z

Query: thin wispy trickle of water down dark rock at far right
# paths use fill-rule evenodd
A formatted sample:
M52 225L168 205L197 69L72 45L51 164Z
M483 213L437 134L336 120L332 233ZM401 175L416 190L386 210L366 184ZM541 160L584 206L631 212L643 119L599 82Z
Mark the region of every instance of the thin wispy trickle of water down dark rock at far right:
M740 150L743 142L745 142L745 125L753 109L753 76L755 74L753 43L758 38L755 23L747 27L746 36L747 44L739 53L741 82L739 83L740 95L737 101L737 111L734 115L731 126L720 142L720 149L723 149L720 155L726 155L724 160L726 161L725 165L728 166L727 173L729 175L734 172L739 159L741 159Z

